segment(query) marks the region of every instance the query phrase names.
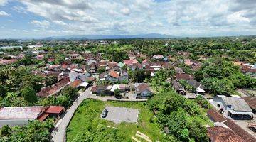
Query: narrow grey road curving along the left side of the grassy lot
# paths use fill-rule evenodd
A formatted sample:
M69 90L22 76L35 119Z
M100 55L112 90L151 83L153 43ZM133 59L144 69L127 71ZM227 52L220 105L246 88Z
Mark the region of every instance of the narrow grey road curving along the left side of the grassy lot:
M89 87L88 89L83 92L78 99L75 100L75 102L72 104L72 106L65 112L65 115L62 119L56 124L57 126L51 133L51 136L53 137L51 141L54 142L64 142L66 140L66 129L68 127L68 124L70 120L72 119L72 116L75 113L75 110L78 108L78 106L81 104L81 102L84 99L87 99L90 96L92 87Z

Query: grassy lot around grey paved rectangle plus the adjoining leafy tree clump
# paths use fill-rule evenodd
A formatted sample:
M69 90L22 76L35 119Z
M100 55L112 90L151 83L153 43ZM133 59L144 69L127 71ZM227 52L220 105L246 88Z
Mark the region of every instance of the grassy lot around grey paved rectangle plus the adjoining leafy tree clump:
M204 125L213 124L206 117L206 109L201 109L198 104L209 108L208 102L201 97L195 102L184 99L176 92L156 94L148 103L87 99L73 116L67 138L68 141L132 141L132 136L140 131L153 141L208 141ZM139 123L114 124L101 119L105 106L137 108L140 112ZM164 135L166 129L169 133Z

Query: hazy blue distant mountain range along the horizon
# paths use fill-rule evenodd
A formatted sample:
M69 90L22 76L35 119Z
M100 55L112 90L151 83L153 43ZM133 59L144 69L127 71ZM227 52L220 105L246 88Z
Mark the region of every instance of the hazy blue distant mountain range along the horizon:
M140 35L67 35L43 38L43 40L75 40L75 39L128 39L128 38L177 38L173 35L164 35L158 33L140 34Z

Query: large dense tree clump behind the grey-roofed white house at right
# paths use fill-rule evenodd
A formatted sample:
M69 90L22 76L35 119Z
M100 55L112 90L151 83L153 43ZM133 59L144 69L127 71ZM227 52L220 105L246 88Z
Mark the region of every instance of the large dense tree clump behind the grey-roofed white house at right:
M256 80L243 75L239 67L223 58L210 58L195 72L196 80L213 95L234 94L236 88L256 88Z

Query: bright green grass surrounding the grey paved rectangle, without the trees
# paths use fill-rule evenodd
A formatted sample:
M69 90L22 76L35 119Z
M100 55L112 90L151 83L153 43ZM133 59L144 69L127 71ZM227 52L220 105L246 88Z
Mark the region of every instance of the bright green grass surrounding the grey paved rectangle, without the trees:
M101 119L100 115L105 106L139 109L138 124L114 124ZM132 136L135 136L137 131L146 134L152 141L161 141L164 138L153 112L149 111L146 103L102 102L87 99L77 109L68 126L67 141L132 141ZM143 140L139 139L139 141Z

